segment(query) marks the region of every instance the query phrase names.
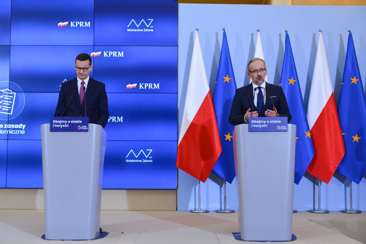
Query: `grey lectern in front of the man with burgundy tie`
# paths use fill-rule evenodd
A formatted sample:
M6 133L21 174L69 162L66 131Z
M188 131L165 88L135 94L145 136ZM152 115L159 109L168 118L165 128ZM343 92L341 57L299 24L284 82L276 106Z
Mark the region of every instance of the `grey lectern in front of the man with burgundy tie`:
M100 202L106 134L50 132L42 124L45 235L48 240L100 238Z

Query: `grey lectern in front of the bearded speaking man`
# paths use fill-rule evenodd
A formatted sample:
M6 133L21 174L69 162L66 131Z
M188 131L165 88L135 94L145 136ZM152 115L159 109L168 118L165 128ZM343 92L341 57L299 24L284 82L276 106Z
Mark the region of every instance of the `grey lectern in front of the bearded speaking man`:
M239 232L246 241L291 241L296 125L287 132L235 127ZM296 237L295 237L296 238Z

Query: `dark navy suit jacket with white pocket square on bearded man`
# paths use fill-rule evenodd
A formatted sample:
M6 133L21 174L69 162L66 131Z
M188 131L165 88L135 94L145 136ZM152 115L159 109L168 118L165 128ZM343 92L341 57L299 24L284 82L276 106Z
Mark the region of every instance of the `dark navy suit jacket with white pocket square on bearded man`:
M265 92L266 92L266 103L264 105L263 112L262 114L259 114L259 117L265 116L264 111L266 111L267 109L273 110L273 105L270 99L270 97L272 97L273 104L277 109L278 115L280 117L287 117L288 121L287 123L290 123L291 120L290 110L288 109L287 100L285 94L283 93L282 87L272 85L266 82ZM232 125L245 124L246 123L244 119L245 113L249 108L250 109L252 108L252 104L253 104L252 83L236 89L229 115L230 124ZM254 111L257 111L255 105L253 107L253 112Z

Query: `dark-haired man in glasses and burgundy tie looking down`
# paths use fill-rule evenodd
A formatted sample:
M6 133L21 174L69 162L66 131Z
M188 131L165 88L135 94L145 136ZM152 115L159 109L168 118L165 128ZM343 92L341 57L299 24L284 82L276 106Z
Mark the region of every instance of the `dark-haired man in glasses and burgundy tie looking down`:
M89 76L92 70L93 65L91 64L90 55L87 53L79 54L75 59L77 76L62 83L55 117L86 116L89 117L89 123L105 127L109 119L105 84Z

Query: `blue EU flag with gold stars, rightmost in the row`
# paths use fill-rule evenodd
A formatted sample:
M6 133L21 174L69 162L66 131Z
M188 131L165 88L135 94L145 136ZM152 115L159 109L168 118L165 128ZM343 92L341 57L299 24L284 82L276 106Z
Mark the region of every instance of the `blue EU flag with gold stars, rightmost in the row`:
M351 32L348 35L338 116L346 154L336 171L359 184L366 173L366 103Z

